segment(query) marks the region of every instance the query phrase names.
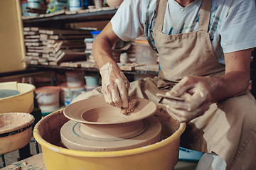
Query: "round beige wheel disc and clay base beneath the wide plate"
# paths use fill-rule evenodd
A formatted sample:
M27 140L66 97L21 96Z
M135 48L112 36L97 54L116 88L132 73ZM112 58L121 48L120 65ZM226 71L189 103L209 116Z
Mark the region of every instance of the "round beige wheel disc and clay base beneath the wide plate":
M116 125L88 125L70 120L60 129L68 149L82 151L116 151L144 147L159 142L161 123L154 117Z

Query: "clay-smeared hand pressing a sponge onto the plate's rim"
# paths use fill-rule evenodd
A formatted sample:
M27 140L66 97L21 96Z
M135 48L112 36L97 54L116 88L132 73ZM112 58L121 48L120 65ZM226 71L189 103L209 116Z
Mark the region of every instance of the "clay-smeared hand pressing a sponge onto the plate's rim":
M118 108L128 107L129 81L118 66L110 64L103 65L100 69L102 76L102 91L105 101Z

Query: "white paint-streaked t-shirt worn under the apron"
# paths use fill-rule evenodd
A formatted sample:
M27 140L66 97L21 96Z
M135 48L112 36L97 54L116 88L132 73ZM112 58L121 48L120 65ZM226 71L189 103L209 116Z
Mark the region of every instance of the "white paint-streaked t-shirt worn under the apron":
M124 0L111 19L114 33L124 41L145 35L154 49L154 30L157 0ZM207 1L207 0L206 0ZM198 30L202 0L186 7L168 0L163 33L174 35ZM212 0L208 33L216 57L223 52L235 52L256 47L255 0Z

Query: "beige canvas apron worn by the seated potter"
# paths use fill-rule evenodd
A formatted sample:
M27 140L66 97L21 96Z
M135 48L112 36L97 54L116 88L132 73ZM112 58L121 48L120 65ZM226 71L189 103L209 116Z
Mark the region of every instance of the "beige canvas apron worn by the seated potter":
M161 33L167 0L160 0L156 15L154 40L159 52L159 77L131 83L129 96L159 103L158 93L166 93L185 76L220 76L219 64L207 33L210 1L203 1L197 32L178 35ZM101 88L77 98L102 96ZM213 103L204 115L187 123L181 146L201 152L215 152L227 162L227 169L255 169L256 102L250 92Z

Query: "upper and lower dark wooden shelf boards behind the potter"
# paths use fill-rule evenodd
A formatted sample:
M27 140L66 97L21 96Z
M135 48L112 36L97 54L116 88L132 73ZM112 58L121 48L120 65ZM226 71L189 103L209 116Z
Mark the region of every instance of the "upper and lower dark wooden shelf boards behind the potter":
M92 21L110 21L114 13L117 12L116 7L103 7L97 9L86 9L77 12L71 11L57 11L54 13L44 13L39 16L23 16L24 27L50 27L50 28L65 28L66 23L80 23L80 22L92 22ZM90 26L89 26L90 27ZM64 63L65 64L65 63ZM72 64L72 63L71 63ZM98 69L94 65L78 63L72 64L70 67L63 67L63 64L59 65L40 65L40 64L28 64L28 68L36 68L43 70L75 70L80 69L85 72L98 72ZM120 66L120 69L125 74L158 74L158 65L154 66Z

